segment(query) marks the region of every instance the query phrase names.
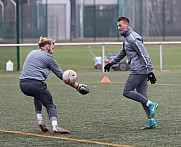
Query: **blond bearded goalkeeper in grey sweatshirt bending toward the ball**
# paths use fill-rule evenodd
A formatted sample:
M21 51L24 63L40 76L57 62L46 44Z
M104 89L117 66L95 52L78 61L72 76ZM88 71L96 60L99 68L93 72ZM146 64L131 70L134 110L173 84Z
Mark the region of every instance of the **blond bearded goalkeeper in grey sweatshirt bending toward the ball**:
M40 37L38 43L39 49L31 51L26 57L20 75L20 89L25 95L34 97L38 126L43 132L47 132L48 128L43 121L42 106L47 110L53 132L69 134L70 131L61 128L57 122L56 106L45 83L50 70L62 80L63 71L52 56L54 43L55 40ZM83 95L89 93L89 89L84 84L76 82L70 86Z

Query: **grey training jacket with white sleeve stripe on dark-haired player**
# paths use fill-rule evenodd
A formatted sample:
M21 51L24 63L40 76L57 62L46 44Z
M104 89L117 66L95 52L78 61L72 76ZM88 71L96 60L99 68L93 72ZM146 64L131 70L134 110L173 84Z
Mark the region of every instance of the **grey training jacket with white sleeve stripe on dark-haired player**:
M118 63L125 56L131 74L148 74L152 71L152 63L149 54L143 44L142 37L134 32L131 27L121 33L123 36L123 48L118 52L112 64Z

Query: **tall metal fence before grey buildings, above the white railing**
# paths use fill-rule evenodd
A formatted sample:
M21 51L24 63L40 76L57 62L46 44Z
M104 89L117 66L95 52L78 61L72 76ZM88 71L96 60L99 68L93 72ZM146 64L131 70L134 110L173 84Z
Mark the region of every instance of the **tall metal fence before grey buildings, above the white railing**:
M16 42L18 37L27 42L40 36L117 41L118 16L130 18L142 36L165 40L181 36L180 7L180 0L0 0L0 41Z

